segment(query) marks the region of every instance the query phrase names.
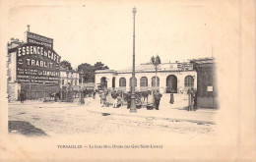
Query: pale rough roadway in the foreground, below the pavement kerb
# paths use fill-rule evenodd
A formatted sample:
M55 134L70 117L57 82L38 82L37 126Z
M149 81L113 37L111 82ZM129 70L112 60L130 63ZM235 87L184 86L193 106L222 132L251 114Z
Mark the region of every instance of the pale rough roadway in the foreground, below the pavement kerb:
M43 107L41 106L43 105ZM77 134L205 134L215 135L215 125L155 117L118 116L88 111L90 105L10 104L9 121L26 121L46 135ZM102 108L104 109L104 108ZM107 108L105 108L107 109ZM19 133L19 130L15 131Z

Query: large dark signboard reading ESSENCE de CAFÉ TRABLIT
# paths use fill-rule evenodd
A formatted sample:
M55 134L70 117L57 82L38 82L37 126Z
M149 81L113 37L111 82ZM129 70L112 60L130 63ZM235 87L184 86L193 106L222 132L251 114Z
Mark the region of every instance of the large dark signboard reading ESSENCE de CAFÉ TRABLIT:
M32 83L59 83L60 56L44 45L26 43L17 47L16 80Z

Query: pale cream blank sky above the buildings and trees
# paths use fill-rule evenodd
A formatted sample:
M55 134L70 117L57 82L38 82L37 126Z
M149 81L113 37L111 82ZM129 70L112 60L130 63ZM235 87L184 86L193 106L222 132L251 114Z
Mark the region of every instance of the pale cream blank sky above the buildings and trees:
M61 3L59 3L61 2ZM193 3L191 3L193 2ZM159 55L162 63L212 57L222 18L211 1L56 1L8 8L7 37L31 31L53 38L53 49L75 69L102 62L110 69L132 67L136 7L136 65ZM7 40L8 41L8 40Z

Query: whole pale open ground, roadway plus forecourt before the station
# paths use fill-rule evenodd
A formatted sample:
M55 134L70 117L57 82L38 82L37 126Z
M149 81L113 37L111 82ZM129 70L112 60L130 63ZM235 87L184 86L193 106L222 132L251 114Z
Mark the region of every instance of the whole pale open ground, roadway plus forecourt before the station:
M168 95L163 95L162 101L167 101ZM183 96L176 96L176 105L184 106L187 100ZM86 104L59 103L42 101L26 101L9 104L9 132L24 135L79 135L79 134L205 134L215 135L215 124L202 120L202 116L209 119L215 112L188 112L182 109L165 110L161 103L160 111L138 109L137 113L129 113L126 106L113 109L101 107L98 96L85 98ZM175 105L175 104L174 104ZM170 118L168 112L175 118ZM175 114L176 113L176 114ZM188 114L190 113L190 114ZM178 115L180 114L180 115ZM186 118L197 115L197 119ZM184 117L183 119L177 118ZM199 120L201 119L201 120ZM22 127L22 122L28 122L29 128ZM27 123L27 124L28 124ZM27 129L24 131L23 129ZM40 132L36 132L39 130ZM30 133L31 132L31 133Z

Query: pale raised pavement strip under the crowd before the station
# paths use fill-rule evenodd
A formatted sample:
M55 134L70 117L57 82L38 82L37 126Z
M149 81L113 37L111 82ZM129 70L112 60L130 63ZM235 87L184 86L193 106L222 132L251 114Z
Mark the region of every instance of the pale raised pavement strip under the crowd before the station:
M167 119L172 121L195 122L202 124L215 124L216 109L200 108L196 111L187 111L188 100L185 94L174 94L174 104L169 103L169 94L163 94L160 100L160 110L147 110L147 108L137 109L136 113L131 113L126 105L120 108L101 107L99 96L96 99L92 97L85 98L85 104L81 105L78 101L73 103L66 102L42 102L39 100L26 100L23 104L31 105L34 108L85 108L88 112L96 114L105 114L111 116L131 116L148 119ZM20 102L15 101L9 105L21 105Z

